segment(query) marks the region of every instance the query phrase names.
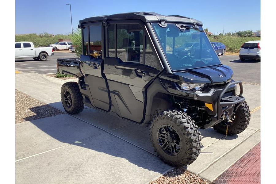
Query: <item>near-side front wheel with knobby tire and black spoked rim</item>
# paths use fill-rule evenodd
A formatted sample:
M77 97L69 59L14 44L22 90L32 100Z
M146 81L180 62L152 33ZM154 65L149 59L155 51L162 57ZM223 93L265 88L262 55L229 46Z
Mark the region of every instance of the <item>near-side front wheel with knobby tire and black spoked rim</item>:
M164 111L152 119L150 140L157 156L173 167L193 163L202 145L197 125L177 110Z

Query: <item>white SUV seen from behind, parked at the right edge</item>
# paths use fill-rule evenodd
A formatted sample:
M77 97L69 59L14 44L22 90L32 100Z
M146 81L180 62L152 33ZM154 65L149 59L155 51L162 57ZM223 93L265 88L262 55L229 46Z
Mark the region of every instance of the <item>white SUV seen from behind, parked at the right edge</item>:
M248 41L240 47L240 60L259 59L261 60L261 41Z

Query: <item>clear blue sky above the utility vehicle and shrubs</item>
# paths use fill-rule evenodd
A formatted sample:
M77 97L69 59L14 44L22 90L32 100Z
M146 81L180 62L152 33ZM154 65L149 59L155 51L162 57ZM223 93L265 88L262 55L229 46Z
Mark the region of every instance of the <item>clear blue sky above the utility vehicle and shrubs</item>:
M214 34L261 29L260 0L15 0L15 34L70 34L70 6L66 4L71 4L73 29L87 17L136 11L195 18Z

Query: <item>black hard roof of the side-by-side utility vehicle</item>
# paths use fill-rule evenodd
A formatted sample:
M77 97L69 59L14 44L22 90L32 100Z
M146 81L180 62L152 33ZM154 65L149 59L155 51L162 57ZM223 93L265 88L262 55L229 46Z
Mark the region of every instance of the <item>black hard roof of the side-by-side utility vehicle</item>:
M79 21L79 24L82 25L84 23L90 22L99 22L99 21L109 21L109 20L130 20L130 19L140 19L144 22L181 22L181 23L189 23L203 26L201 21L190 17L184 17L180 15L161 15L155 12L129 12L129 13L117 13L113 15L103 15L98 17L89 17Z

